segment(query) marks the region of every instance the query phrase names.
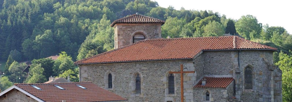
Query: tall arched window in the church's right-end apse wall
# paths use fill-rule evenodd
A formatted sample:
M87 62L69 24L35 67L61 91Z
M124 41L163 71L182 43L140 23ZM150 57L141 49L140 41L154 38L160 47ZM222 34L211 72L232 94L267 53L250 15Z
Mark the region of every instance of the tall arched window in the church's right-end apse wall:
M253 76L252 76L252 69L251 67L246 67L244 70L244 88L245 89L253 89Z

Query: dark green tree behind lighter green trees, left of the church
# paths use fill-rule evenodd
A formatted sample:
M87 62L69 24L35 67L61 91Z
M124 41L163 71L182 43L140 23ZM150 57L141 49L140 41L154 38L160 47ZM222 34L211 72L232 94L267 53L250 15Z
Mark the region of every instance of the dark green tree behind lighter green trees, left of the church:
M42 58L32 60L33 65L41 64L41 68L44 68L43 75L48 78L55 76L53 72L54 61L52 59Z

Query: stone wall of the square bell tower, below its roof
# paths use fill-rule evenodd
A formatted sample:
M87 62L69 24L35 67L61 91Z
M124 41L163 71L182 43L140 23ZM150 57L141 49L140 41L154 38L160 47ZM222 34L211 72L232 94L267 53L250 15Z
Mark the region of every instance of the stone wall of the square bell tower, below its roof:
M161 24L115 24L114 48L132 44L133 36L137 33L144 34L146 39L161 38Z

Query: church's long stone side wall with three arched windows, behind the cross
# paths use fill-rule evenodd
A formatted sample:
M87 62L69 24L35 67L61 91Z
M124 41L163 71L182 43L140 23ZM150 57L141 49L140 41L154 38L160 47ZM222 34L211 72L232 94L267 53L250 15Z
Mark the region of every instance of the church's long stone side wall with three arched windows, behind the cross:
M194 71L194 65L189 60L176 61L148 61L132 63L108 63L95 65L80 65L80 81L92 81L105 88L105 73L110 71L114 76L113 89L129 102L166 102L180 101L180 74L175 76L175 94L168 94L168 72L179 71L180 64L184 65L184 71ZM135 93L135 80L133 76L139 73L141 76L141 94ZM196 73L184 74L184 100L193 102L192 86L196 80Z

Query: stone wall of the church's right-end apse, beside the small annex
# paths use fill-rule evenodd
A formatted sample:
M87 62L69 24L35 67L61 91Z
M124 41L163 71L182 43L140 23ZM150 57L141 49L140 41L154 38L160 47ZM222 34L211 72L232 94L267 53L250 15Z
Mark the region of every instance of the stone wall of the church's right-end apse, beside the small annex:
M204 75L232 75L235 79L237 99L274 101L274 91L276 91L277 99L281 100L281 90L279 90L281 72L275 68L274 71L269 66L273 64L272 51L241 50L239 54L238 51L204 51L200 56L204 58L204 65L201 70L197 70L197 78ZM247 66L253 70L253 89L244 89L244 69ZM273 72L277 72L278 75L274 75ZM277 80L277 86L274 86L273 78ZM278 89L274 90L274 87Z

